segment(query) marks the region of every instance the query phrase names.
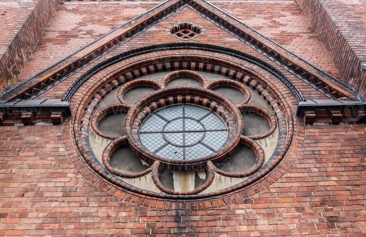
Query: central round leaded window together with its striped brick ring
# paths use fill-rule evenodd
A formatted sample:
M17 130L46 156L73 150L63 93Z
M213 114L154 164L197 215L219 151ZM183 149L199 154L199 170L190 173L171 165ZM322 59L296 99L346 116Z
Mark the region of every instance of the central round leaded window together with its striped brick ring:
M198 105L197 107L202 106L207 108L205 109L207 111L197 111L197 108L188 109L188 105L185 106L185 104ZM166 106L169 105L182 105L183 108L166 110L168 108ZM159 109L161 108L165 109L165 111L160 112L161 110ZM192 117L196 113L199 113L198 117L201 119ZM188 116L188 114L194 115ZM217 117L221 117L221 123L224 121L224 127L220 125ZM151 124L153 126L150 126L150 121L152 121ZM205 123L208 125L205 127L202 121L206 121ZM213 125L212 129L207 127ZM156 129L157 127L158 129ZM240 110L229 99L208 89L188 86L169 87L146 95L132 106L127 113L125 121L125 133L129 146L139 158L150 164L154 163L154 161L160 161L165 166L179 170L204 167L207 161L212 161L213 163L223 161L240 143L242 127L243 120ZM225 135L225 140L220 143L219 147L217 147L217 144L210 146L210 143L213 142L212 140L200 140L202 136L205 137L205 133L220 131L227 131L227 135ZM174 144L165 138L160 138L160 142L155 136L157 133L165 134L165 136L174 136L172 137L173 141L178 140L177 136L183 136L183 142ZM146 134L149 134L150 137L145 138ZM146 147L150 143L149 140L152 140L154 143L160 142L159 146L147 149ZM189 144L184 143L185 141ZM200 148L194 147L193 150L190 150L192 149L190 147L196 146L196 144L200 144ZM213 148L215 146L216 148ZM164 150L161 151L161 148L164 148ZM197 152L205 155L202 157L195 157L194 155L185 157L184 155L197 154ZM159 155L168 154L170 156L177 153L181 155L178 157L174 156L175 158Z

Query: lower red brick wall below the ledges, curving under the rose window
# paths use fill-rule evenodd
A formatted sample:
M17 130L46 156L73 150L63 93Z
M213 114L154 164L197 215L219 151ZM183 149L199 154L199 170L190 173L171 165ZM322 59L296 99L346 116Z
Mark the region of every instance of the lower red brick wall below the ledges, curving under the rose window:
M298 159L279 181L237 204L199 211L138 206L91 185L66 155L60 126L0 129L1 236L366 233L365 125L307 126Z

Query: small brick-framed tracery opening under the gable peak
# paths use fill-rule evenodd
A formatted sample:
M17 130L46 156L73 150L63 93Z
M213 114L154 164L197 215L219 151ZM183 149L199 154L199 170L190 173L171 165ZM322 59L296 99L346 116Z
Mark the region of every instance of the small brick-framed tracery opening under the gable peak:
M190 40L206 33L206 28L193 22L178 22L165 29L168 35L177 39Z

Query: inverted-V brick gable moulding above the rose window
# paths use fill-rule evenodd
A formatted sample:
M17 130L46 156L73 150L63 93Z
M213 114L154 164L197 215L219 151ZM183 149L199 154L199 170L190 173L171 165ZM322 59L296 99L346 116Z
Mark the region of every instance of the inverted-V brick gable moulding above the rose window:
M60 80L64 80L92 61L99 59L104 54L152 27L167 15L186 6L315 89L324 92L329 98L352 98L354 96L352 87L330 76L213 4L205 0L167 0L70 54L37 75L5 91L4 99L11 101L12 99L36 98Z

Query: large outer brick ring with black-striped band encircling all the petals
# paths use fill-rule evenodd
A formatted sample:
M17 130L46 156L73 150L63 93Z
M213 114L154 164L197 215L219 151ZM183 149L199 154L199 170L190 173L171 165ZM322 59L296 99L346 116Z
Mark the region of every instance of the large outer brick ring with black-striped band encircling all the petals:
M72 118L63 123L63 136L65 147L76 168L91 183L110 195L144 206L165 209L193 210L223 206L243 200L275 183L295 162L302 146L303 123L295 116L296 104L290 102L296 101L295 98L303 98L299 90L279 71L244 53L225 48L219 48L220 50L215 52L212 46L206 47L202 44L191 44L191 49L180 49L179 44L170 47L146 47L138 49L139 54L127 52L125 55L116 56L101 64L104 66L98 65L91 69L70 88L66 98L71 101L74 110ZM113 65L113 70L109 68L110 65ZM88 127L98 102L110 91L128 81L147 74L172 70L206 71L228 76L255 90L275 112L280 129L276 150L259 170L255 170L254 174L243 182L211 193L156 193L134 187L113 176L94 156L89 144ZM273 80L273 76L276 80ZM86 81L90 83L84 83ZM75 91L78 92L77 95L74 95ZM294 95L291 91L298 94ZM82 96L79 96L80 94ZM242 143L247 142L243 140Z

